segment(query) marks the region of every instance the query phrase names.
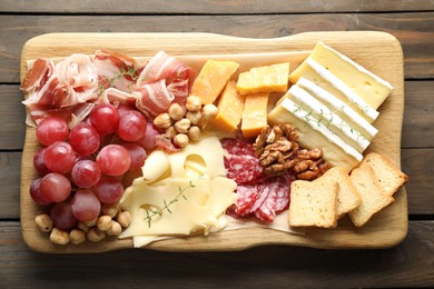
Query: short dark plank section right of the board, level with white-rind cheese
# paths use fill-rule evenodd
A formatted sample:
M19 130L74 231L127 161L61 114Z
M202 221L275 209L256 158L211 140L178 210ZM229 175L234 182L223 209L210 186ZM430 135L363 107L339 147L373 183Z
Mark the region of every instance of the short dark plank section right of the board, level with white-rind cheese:
M434 81L405 81L403 148L434 148Z

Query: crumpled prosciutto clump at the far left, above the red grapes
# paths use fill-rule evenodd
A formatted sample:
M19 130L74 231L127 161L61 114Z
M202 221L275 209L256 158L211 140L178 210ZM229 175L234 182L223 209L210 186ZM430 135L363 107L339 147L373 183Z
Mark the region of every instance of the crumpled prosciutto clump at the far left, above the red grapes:
M28 92L22 102L27 106L29 126L37 126L50 114L65 114L70 127L89 113L88 103L98 97L98 77L90 58L72 54L55 63L36 60L26 76L21 89Z

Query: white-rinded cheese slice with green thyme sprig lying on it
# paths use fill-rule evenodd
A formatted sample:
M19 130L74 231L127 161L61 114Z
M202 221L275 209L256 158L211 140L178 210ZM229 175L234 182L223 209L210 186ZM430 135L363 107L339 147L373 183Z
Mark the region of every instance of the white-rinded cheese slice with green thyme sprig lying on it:
M309 117L314 118L314 121L324 124L324 127L336 133L346 143L353 146L359 152L363 152L367 146L369 146L371 142L361 132L351 127L345 120L316 100L303 88L293 86L288 92L294 97L296 100L295 102L297 102L304 110L312 112Z

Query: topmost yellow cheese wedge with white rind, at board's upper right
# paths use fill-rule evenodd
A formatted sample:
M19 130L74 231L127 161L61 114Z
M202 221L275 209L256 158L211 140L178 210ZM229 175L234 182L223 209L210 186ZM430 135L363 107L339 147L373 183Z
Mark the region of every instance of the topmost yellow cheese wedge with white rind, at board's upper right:
M391 83L323 42L315 46L309 58L344 81L374 109L377 109L392 91Z

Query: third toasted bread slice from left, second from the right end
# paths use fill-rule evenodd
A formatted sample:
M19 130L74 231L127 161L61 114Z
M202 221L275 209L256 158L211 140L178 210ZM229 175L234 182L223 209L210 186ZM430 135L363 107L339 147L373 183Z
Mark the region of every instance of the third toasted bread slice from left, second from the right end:
M367 163L362 163L349 176L359 192L361 205L348 212L349 219L356 227L364 226L374 213L391 205L394 199L379 187L374 170Z

